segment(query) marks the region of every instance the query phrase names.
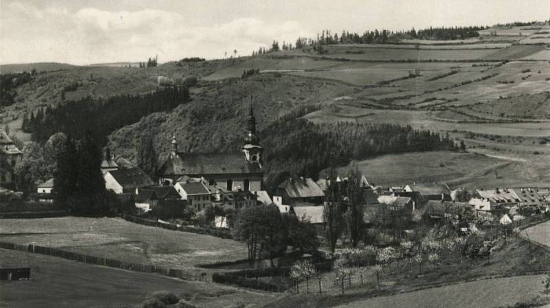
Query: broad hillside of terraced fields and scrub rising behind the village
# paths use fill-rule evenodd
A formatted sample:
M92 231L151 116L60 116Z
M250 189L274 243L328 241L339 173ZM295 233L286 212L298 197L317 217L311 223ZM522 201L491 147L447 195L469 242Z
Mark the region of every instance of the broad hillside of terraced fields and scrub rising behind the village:
M20 130L25 112L58 104L63 96L79 100L146 93L162 88L161 76L175 83L196 77L199 84L190 88L188 104L112 132L113 152L134 159L135 143L149 132L155 136L160 161L173 132L180 150L236 150L252 94L259 130L289 112L315 106L304 119L394 123L450 133L456 142L465 139L468 147L484 154L506 151L527 160L534 152L542 154L534 163L542 163L544 169L544 158L550 155L545 145L550 137L550 52L540 43L547 38L540 36L550 26L523 28L527 27L498 26L456 40L334 44L324 45L322 52L305 47L145 69L118 63L70 67L39 73L18 86L16 104L3 108L0 122L25 140L29 136ZM259 73L241 78L250 69ZM472 139L472 133L478 138ZM507 143L491 141L491 136ZM540 183L536 174L525 174L525 182Z

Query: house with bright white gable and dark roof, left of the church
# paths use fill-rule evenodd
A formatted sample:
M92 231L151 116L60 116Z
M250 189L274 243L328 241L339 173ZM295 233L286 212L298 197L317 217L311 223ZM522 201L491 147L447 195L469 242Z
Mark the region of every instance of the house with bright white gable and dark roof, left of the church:
M135 193L135 189L155 185L155 182L138 167L110 170L107 171L103 178L105 180L105 188L115 193Z

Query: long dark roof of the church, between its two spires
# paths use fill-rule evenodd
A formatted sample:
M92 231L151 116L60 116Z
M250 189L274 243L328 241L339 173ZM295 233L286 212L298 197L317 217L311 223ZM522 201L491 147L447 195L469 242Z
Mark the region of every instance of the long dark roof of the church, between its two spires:
M159 174L164 176L202 174L258 174L258 162L249 162L242 152L236 153L177 153L162 164Z

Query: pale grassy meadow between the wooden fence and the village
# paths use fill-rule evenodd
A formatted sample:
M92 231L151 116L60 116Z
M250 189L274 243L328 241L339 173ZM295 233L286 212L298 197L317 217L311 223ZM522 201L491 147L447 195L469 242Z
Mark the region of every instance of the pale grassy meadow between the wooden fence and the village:
M247 256L245 245L238 241L142 226L115 218L2 220L0 241L180 269Z

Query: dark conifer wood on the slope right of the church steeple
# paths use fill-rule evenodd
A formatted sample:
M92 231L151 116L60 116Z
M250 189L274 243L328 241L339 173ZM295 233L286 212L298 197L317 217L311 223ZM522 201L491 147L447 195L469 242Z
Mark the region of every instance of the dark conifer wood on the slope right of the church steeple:
M285 177L317 178L322 169L382 154L454 148L448 136L393 124L316 124L305 119L274 121L261 132L268 185Z

